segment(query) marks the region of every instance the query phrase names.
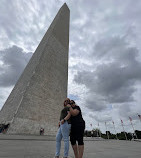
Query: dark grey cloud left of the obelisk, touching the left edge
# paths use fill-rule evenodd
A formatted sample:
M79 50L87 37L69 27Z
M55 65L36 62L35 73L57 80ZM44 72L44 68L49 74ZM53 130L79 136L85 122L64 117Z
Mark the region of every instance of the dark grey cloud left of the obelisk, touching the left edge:
M0 50L0 86L13 86L20 77L32 53L25 53L17 46Z

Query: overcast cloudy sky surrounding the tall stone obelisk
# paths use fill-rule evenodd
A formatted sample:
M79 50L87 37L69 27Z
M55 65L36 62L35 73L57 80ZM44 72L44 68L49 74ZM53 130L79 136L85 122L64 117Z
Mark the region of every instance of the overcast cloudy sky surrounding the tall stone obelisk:
M68 96L87 129L141 129L140 0L0 0L0 108L57 11L70 8ZM92 127L90 126L92 124Z

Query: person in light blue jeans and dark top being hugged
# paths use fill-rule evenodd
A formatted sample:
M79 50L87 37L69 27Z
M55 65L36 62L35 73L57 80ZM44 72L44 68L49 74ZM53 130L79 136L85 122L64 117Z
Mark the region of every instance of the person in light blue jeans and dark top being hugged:
M55 158L59 158L60 156L60 148L61 148L61 140L64 140L64 158L68 157L69 153L69 134L71 128L70 117L71 114L69 112L69 107L67 105L70 103L70 99L67 98L64 101L64 108L60 114L59 128L56 134L56 154Z

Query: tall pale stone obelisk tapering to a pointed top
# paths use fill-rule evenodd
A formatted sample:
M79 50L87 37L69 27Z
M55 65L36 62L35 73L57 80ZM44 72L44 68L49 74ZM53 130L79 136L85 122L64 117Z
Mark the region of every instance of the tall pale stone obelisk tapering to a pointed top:
M7 133L56 133L67 97L69 17L64 4L6 100L0 123L10 123Z

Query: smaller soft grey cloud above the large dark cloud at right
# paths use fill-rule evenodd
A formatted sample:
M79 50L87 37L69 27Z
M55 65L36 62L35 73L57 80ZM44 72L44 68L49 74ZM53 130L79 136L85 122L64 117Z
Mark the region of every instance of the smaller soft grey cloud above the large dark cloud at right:
M138 65L139 52L136 47L130 45L126 37L114 36L99 40L93 48L94 57L99 60L118 62L120 66Z

